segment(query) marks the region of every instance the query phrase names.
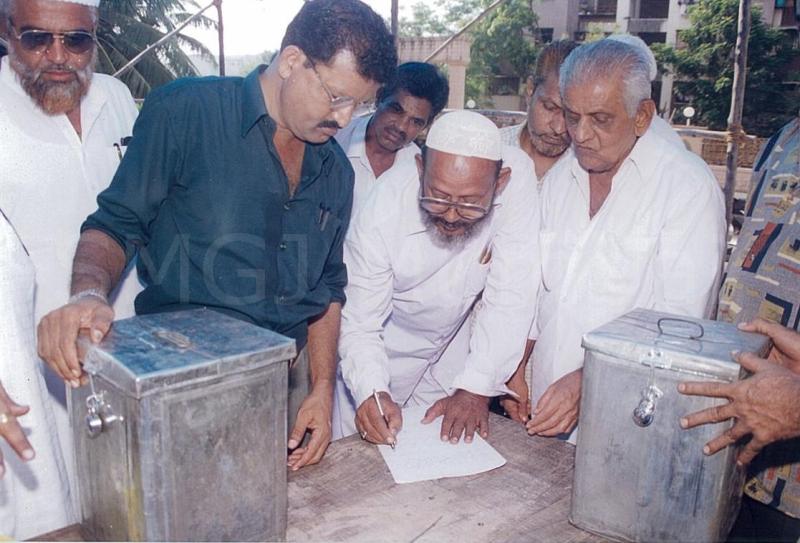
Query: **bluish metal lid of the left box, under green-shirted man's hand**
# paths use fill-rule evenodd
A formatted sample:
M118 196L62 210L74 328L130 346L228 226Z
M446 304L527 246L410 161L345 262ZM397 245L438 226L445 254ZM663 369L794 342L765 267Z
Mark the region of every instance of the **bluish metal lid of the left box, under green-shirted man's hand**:
M295 342L208 309L115 321L88 347L84 369L141 397L175 384L239 373L294 358Z

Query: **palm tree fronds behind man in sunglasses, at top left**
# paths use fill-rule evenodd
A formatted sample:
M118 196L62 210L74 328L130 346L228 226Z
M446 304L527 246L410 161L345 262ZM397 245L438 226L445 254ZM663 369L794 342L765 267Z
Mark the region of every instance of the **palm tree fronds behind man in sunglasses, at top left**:
M103 0L97 27L97 71L116 72L199 9L195 0ZM195 19L191 25L216 28L216 22L205 15ZM197 75L197 69L184 48L214 61L202 43L179 32L142 57L120 79L135 97L143 98L151 89L175 78Z

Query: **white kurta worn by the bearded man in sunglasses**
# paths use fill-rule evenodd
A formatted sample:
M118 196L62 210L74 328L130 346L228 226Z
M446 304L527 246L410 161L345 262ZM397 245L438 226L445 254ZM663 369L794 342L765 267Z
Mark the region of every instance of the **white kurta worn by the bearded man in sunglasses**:
M46 115L36 106L17 82L8 57L0 62L0 208L36 269L37 323L69 298L80 226L97 209L97 194L111 182L120 161L114 144L131 134L136 114L125 85L95 74L81 102L79 138L66 115ZM133 315L133 299L140 290L135 273L129 274L114 304L117 318ZM64 384L49 370L46 378L74 488Z

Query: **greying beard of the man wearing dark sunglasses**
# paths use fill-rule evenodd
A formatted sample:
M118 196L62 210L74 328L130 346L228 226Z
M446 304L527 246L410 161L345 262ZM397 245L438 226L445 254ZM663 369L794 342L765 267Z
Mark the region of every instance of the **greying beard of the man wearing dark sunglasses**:
M13 42L11 42L13 44ZM25 92L30 96L36 105L48 115L60 115L75 110L81 103L86 93L89 92L89 85L94 73L94 65L97 60L97 48L92 52L92 60L82 70L77 70L69 64L47 63L38 68L30 68L23 63L16 55L14 46L9 47L9 61L17 80ZM63 70L75 74L75 79L67 82L45 81L42 73L48 70Z

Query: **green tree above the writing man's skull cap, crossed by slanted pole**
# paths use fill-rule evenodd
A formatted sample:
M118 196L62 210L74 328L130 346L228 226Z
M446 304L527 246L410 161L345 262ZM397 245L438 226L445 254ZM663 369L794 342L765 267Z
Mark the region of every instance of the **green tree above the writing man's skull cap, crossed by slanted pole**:
M436 0L411 7L411 19L401 19L401 36L447 36L462 28L491 5L492 0ZM471 62L467 68L466 98L481 106L497 89L499 77L524 80L536 62L530 36L536 14L529 0L507 0L475 25L470 34ZM517 92L519 89L505 89Z

